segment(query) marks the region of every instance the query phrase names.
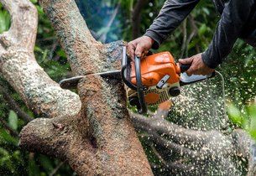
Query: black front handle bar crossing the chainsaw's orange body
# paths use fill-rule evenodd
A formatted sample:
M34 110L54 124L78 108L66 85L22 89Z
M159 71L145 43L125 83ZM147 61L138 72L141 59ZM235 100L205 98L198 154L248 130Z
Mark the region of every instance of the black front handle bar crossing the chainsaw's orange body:
M148 107L145 102L144 85L142 84L142 80L141 80L140 59L136 55L135 55L134 63L135 63L138 101L140 104L140 106L137 108L138 108L138 113L144 114L148 111Z

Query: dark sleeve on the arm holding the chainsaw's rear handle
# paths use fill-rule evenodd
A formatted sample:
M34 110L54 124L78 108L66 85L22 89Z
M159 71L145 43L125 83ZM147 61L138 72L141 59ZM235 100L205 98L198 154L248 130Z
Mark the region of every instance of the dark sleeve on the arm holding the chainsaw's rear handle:
M212 43L202 54L202 60L208 67L215 69L230 54L250 17L253 6L254 0L229 0L225 4Z

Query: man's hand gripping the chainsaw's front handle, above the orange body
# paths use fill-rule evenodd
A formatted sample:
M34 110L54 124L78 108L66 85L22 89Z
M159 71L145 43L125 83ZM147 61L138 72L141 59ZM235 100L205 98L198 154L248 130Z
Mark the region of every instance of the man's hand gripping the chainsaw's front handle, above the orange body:
M138 57L143 57L152 48L154 39L148 36L143 36L128 43L128 54L134 60L134 54Z

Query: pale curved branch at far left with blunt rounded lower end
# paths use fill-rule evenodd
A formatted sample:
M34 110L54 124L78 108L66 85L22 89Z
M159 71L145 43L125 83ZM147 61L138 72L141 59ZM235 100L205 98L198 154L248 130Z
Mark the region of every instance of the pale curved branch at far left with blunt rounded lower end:
M64 91L34 59L37 10L28 0L1 0L12 17L11 28L0 35L0 72L35 113L48 117L75 115L79 96Z

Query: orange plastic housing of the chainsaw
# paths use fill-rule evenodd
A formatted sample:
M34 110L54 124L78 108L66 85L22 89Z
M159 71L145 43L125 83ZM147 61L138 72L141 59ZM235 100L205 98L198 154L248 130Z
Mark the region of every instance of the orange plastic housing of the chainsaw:
M141 78L144 86L157 85L165 75L170 75L167 81L170 85L180 82L180 66L175 64L170 52L152 54L141 60ZM134 65L131 69L131 81L136 85Z

